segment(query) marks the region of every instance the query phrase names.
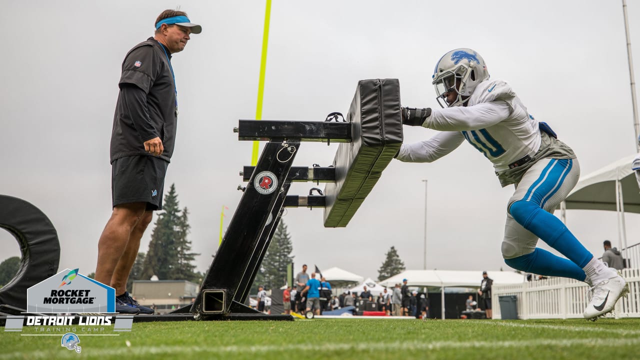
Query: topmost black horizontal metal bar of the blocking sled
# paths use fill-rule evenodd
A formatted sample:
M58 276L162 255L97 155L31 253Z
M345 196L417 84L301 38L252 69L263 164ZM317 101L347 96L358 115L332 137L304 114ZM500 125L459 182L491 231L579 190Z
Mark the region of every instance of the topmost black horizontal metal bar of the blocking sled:
M283 140L302 142L351 142L350 122L239 120L238 140Z

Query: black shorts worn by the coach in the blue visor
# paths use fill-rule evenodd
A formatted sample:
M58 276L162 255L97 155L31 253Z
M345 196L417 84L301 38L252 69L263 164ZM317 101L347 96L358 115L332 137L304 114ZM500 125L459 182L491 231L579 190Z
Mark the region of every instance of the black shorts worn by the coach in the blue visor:
M155 156L125 156L111 163L113 207L146 202L147 211L161 210L167 161Z

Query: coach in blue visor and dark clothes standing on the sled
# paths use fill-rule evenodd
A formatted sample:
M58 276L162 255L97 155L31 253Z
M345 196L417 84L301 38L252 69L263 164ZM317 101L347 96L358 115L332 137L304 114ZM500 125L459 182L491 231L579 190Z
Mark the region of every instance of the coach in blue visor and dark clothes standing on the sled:
M189 35L202 31L186 13L176 10L164 10L155 25L154 37L125 56L113 117L113 212L98 242L95 280L115 288L118 313L154 313L129 296L127 278L152 211L162 209L178 119L172 54L184 50Z

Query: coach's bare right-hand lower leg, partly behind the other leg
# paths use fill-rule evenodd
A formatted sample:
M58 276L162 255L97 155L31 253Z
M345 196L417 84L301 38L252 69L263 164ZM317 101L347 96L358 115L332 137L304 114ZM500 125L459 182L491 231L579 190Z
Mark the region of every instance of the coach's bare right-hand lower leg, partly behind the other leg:
M127 279L129 279L129 273L133 264L136 262L138 256L138 249L140 249L140 239L145 233L148 225L151 223L153 217L153 211L145 211L140 217L138 224L134 226L129 236L129 242L124 250L124 253L116 265L113 276L111 276L111 287L116 290L116 296L122 295L127 291Z

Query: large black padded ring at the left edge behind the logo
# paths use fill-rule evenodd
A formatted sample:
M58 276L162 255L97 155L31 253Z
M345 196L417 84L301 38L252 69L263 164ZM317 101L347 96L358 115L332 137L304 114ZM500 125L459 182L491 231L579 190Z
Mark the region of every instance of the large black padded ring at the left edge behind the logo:
M27 289L58 272L58 233L40 209L7 195L0 195L0 227L15 237L22 252L17 274L0 289L0 305L26 309Z

